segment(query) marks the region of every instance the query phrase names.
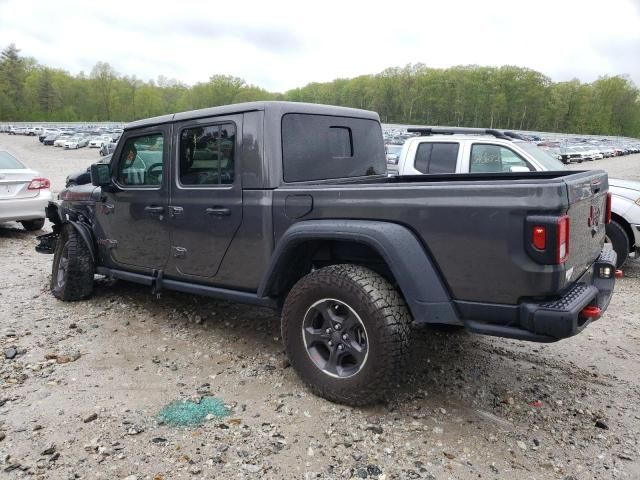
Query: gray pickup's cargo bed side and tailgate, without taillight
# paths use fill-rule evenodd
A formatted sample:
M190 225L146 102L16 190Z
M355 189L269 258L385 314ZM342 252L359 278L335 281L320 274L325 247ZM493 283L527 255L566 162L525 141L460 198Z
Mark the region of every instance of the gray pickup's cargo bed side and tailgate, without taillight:
M603 171L420 175L305 182L274 191L277 239L297 221L385 220L411 229L431 254L454 300L517 304L561 294L600 254L604 219L592 232L592 207L604 214ZM303 218L285 211L288 197L307 196ZM542 265L525 250L525 221L534 215L570 218L570 252Z

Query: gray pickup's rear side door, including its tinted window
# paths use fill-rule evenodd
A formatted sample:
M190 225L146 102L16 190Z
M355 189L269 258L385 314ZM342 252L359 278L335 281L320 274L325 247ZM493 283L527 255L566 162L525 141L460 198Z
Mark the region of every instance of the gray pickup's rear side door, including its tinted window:
M242 223L242 115L192 120L174 128L177 161L172 168L171 257L165 274L215 283Z

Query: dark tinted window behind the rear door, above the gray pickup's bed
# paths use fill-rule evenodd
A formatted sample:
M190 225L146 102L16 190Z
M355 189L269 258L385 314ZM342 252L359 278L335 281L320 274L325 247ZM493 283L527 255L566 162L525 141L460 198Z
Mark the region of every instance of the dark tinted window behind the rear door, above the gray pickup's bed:
M282 162L285 182L387 173L380 124L362 118L284 115Z

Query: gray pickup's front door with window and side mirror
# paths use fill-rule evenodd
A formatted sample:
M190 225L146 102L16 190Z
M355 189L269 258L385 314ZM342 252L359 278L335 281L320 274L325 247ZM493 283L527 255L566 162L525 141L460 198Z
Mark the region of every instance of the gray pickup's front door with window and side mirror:
M112 266L151 273L169 256L167 216L171 128L127 133L111 166L113 185L96 204L98 245Z

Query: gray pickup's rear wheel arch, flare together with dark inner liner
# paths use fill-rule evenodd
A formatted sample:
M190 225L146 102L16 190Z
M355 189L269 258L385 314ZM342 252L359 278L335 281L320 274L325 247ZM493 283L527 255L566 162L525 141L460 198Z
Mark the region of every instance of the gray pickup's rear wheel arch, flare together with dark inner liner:
M316 254L327 245L355 246L352 252L368 254L364 261L356 258L352 263L378 271L395 283L415 321L462 324L429 252L407 227L391 222L309 220L292 225L276 245L258 295L286 296L311 271ZM329 257L326 261L345 263L340 260Z

